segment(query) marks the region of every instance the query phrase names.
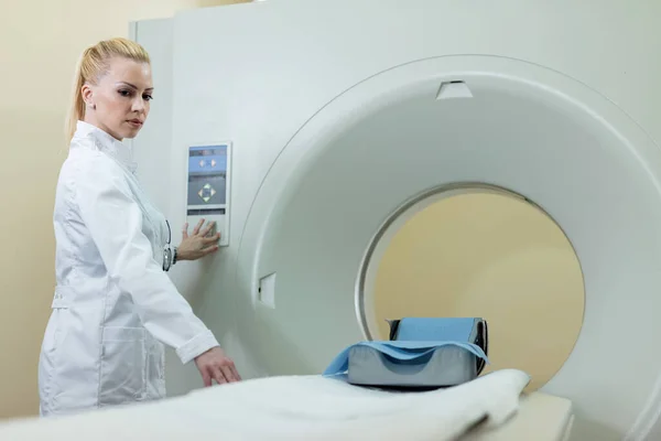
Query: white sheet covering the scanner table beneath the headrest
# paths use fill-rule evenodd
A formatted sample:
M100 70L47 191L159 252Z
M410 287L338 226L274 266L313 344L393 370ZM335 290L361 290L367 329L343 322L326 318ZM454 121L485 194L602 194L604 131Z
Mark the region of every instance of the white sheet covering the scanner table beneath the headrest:
M516 413L529 376L503 369L445 390L384 392L321 376L246 380L184 397L0 426L1 440L454 440Z

